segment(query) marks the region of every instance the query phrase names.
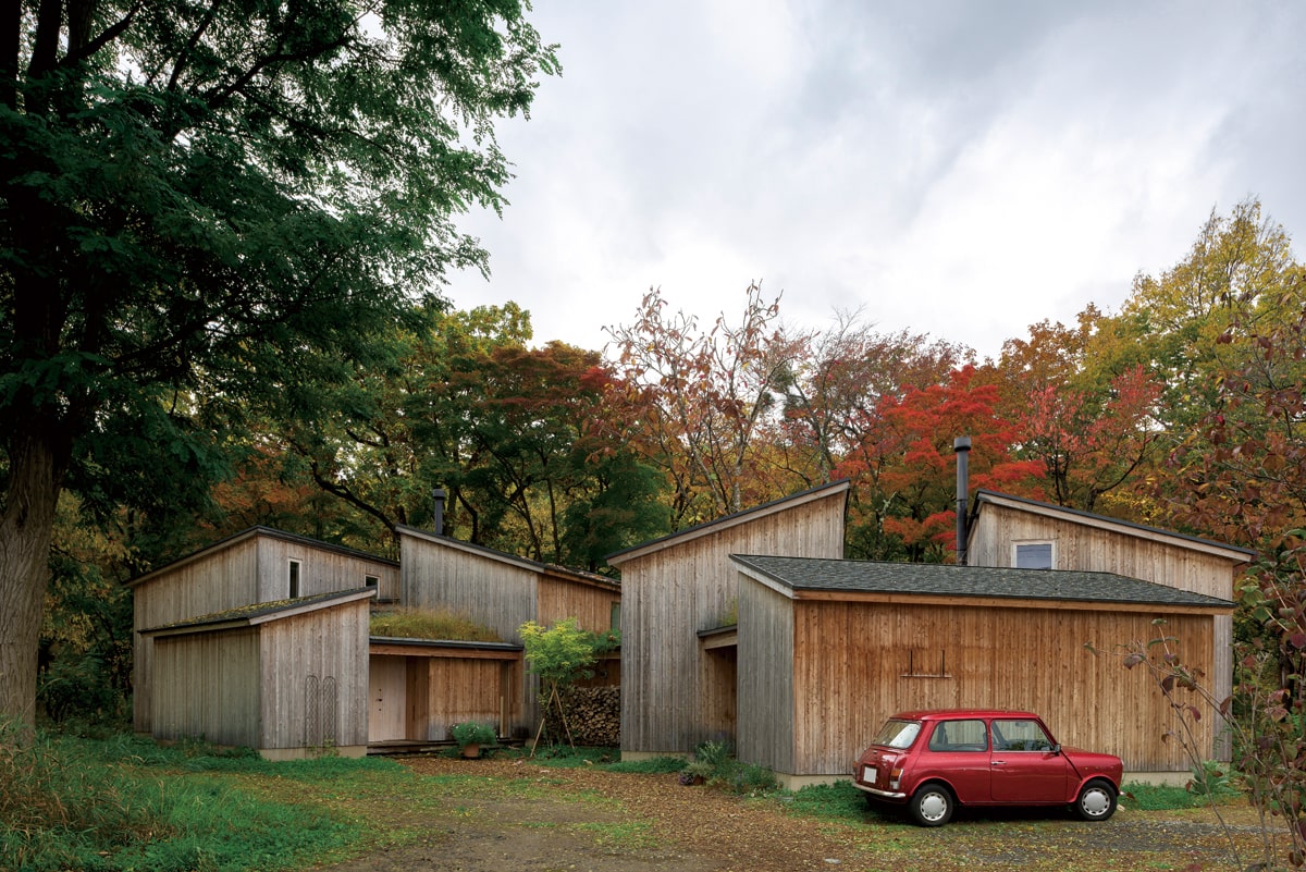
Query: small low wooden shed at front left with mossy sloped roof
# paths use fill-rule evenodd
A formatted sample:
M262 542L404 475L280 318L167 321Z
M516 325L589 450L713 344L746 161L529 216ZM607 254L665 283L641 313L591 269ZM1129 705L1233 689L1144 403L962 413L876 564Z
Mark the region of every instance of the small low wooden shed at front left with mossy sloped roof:
M364 755L375 593L281 599L141 631L153 647L153 735L202 736L273 760Z

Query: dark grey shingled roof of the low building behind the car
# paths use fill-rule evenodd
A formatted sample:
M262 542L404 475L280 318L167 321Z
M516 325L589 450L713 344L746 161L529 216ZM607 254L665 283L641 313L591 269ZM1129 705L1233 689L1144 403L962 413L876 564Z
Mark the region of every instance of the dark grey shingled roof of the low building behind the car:
M833 593L1117 603L1122 606L1218 610L1221 612L1233 608L1233 603L1226 599L1194 594L1109 572L754 555L730 555L730 559L750 578L790 599L803 599L804 594Z

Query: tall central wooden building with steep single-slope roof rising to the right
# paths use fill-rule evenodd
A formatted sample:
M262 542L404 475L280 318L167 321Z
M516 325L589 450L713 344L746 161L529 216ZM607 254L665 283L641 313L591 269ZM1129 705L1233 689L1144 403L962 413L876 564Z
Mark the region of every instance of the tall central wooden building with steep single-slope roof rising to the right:
M842 557L848 488L812 488L607 557L622 570L623 758L734 738L729 628L739 584L730 553Z

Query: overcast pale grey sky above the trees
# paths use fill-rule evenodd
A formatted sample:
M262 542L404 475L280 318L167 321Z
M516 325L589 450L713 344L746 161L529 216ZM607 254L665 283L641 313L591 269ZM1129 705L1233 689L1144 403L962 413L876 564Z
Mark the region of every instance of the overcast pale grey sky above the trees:
M794 326L861 308L981 358L1181 260L1259 197L1306 239L1306 3L537 0L560 44L502 219L464 226L535 342L599 350L661 287Z

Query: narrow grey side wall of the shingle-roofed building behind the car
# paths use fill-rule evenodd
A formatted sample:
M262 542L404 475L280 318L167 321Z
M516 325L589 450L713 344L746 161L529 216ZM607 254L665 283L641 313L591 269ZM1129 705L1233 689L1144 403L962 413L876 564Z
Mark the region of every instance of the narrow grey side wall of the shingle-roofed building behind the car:
M794 607L741 578L738 756L794 773Z

